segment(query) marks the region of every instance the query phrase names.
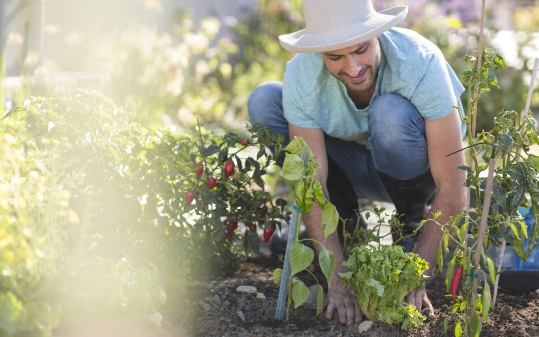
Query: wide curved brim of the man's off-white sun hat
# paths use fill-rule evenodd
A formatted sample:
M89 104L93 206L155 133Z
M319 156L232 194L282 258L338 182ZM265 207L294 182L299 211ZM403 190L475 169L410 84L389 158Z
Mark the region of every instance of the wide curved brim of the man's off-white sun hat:
M305 29L279 36L281 45L296 53L334 51L365 42L391 29L406 17L407 6L392 7L377 12L367 20L334 30L307 33Z

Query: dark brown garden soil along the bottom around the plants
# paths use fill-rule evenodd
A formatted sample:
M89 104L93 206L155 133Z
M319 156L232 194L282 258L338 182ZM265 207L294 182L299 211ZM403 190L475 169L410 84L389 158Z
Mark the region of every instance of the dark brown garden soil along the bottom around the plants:
M342 326L336 319L326 320L325 311L316 312L300 307L293 310L288 322L274 319L278 289L272 280L273 270L282 267L277 259L259 257L243 264L239 272L227 273L204 280L193 290L197 300L186 301L179 310L165 312L165 329L178 336L353 336L360 335L358 325ZM312 278L310 278L312 279ZM302 280L308 283L309 277ZM319 277L319 280L324 280ZM254 294L236 292L239 285L252 285L265 299ZM537 286L539 288L539 285ZM402 331L398 327L375 324L362 336L440 336L444 318L450 313L451 298L445 297L444 280L439 277L427 288L436 317L422 327ZM196 294L196 295L195 295ZM503 311L508 313L502 318ZM454 319L450 317L451 322ZM453 331L447 334L452 336ZM539 336L539 299L535 293L517 294L500 288L489 321L483 321L481 336Z

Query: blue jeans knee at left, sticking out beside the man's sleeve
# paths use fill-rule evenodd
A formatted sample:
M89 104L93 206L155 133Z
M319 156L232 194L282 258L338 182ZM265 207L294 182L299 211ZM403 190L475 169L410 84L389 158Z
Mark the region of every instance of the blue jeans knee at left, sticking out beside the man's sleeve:
M266 110L275 105L282 105L282 83L268 81L260 84L247 99L247 113L251 123L259 121L266 125L265 119L269 117Z

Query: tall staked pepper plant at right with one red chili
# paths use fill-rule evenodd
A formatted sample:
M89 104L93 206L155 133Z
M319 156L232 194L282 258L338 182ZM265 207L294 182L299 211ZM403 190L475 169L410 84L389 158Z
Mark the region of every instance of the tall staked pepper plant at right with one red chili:
M485 251L489 245L500 245L502 239L511 244L516 254L526 261L531 250L537 245L537 217L532 228L528 229L519 214L518 207L529 207L534 214L539 213L539 157L529 153L531 144L539 143L539 133L535 128L535 121L529 114L521 117L515 111L502 109L494 120L492 131L482 131L473 137L472 119L475 113L473 103L483 93L490 90L489 86L497 87L497 80L492 74L505 65L502 56L496 50L482 50L482 64L476 68L478 53L468 54L465 59L471 64L464 71L464 81L468 86L469 104L463 118L468 131L469 152L471 166L461 166L468 175L466 187L475 189L475 216L464 212L454 216L448 226L445 226L443 239L438 249L438 264L443 265L443 256L449 252L450 242L457 247L448 264L446 274L447 291L455 299L452 313L457 315L454 324L454 334L478 336L481 332L482 317L488 321L488 312L492 308L490 287L487 282L489 276L495 283L496 271L492 259L486 256ZM497 159L497 167L493 175L492 201L487 209L479 205L486 198L483 189L487 178L481 173L488 169L490 159ZM487 217L485 240L482 246L475 241L468 245L470 238L478 238L478 219ZM459 224L463 222L459 228ZM528 247L525 247L529 239ZM474 279L479 275L474 272L472 259L475 253L481 257L481 270L484 276L481 294L477 294L473 287ZM475 281L477 284L477 280ZM460 295L457 293L460 291ZM477 301L480 298L481 301ZM448 331L448 319L444 320L444 332Z

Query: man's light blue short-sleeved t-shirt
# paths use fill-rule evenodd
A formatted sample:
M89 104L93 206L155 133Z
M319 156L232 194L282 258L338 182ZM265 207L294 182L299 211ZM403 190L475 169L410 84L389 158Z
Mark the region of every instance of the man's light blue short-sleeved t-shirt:
M443 118L462 106L464 87L436 45L409 29L379 37L381 62L372 97L397 93L425 119ZM371 100L372 101L372 100ZM282 104L288 122L368 146L367 113L358 109L344 84L329 73L320 53L296 54L286 65Z

